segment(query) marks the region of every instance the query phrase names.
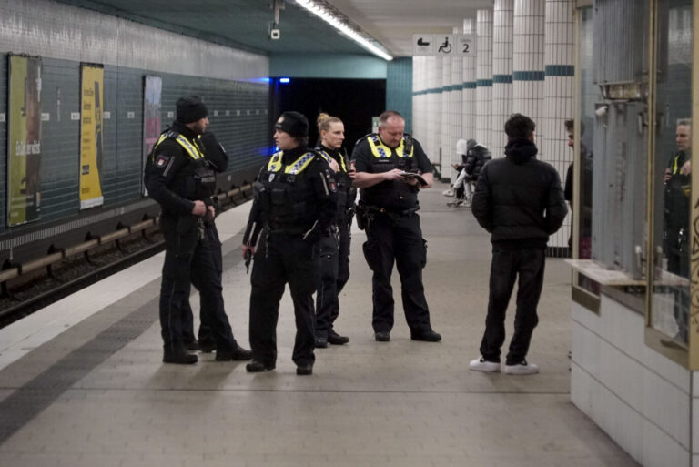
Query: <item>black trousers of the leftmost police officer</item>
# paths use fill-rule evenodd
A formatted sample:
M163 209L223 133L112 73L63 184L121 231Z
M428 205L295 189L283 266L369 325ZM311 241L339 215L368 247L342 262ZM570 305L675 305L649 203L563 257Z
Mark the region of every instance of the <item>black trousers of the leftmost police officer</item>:
M199 291L202 321L210 325L217 350L234 350L236 340L223 305L221 242L216 226L206 225L203 239L199 239L197 218L162 217L160 228L166 244L160 286L160 326L166 350L184 346L182 321L190 284Z

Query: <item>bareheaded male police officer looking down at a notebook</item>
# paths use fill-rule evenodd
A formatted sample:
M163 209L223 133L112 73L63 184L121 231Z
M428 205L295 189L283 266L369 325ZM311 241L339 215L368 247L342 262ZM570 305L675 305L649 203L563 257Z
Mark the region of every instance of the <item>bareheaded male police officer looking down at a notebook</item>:
M364 256L373 271L374 339L390 340L393 328L393 263L400 274L405 318L412 340L437 342L422 286L427 262L417 210L418 192L433 183L432 167L420 143L404 134L405 120L393 110L379 117L379 133L362 137L354 147L354 185L361 188L358 223L366 228Z

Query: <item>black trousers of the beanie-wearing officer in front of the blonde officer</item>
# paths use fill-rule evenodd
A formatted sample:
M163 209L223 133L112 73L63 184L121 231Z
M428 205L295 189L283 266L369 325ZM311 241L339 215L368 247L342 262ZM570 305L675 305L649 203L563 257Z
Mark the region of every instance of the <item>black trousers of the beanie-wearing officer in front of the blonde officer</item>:
M296 315L292 360L313 364L315 356L313 292L318 284L318 262L313 244L300 235L262 232L252 266L250 347L254 360L269 366L277 361L279 301L288 283Z

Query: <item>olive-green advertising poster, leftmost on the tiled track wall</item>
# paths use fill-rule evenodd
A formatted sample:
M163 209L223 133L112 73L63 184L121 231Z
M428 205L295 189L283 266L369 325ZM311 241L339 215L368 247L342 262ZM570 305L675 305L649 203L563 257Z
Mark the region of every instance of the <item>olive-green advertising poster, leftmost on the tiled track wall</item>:
M9 58L7 225L32 222L41 212L41 58Z

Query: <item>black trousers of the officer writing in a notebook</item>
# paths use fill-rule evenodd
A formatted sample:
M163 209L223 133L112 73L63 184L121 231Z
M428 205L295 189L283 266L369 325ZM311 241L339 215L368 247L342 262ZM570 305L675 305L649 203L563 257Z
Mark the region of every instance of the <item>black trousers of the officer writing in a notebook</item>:
M420 230L420 216L388 217L377 213L367 225L364 257L373 271L372 300L375 332L393 328L393 288L390 275L395 262L400 274L400 293L405 319L412 334L432 330L430 310L422 287L422 268L427 249Z

